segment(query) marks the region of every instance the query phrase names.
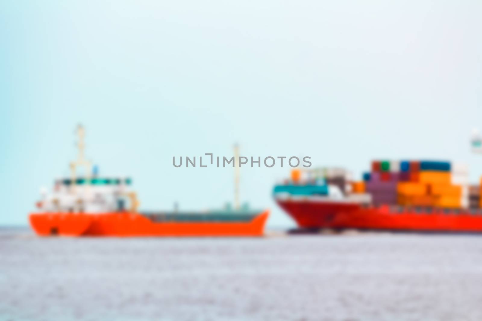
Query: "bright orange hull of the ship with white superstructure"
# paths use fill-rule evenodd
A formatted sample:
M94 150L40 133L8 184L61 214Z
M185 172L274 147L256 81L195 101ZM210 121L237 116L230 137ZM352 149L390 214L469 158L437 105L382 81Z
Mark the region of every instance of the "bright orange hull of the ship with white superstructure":
M262 236L269 212L248 222L153 222L138 213L32 213L33 230L41 236Z

